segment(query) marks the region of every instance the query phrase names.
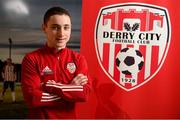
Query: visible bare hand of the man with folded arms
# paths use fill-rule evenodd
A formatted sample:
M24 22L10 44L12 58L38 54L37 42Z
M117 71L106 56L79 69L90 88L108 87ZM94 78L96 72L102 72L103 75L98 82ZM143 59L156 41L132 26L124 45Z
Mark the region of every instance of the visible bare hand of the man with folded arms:
M76 77L73 78L70 84L72 85L85 85L88 82L87 76L83 74L78 74Z

